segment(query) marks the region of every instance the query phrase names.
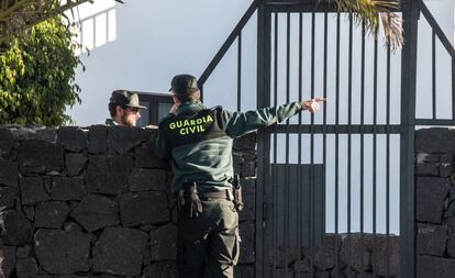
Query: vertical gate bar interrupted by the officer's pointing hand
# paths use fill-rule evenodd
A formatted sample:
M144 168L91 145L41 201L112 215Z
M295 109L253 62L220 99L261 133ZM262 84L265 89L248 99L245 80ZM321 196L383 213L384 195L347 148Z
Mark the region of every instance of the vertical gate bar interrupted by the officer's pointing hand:
M311 13L311 99L314 99L314 51L315 45L315 14ZM313 276L314 248L314 113L311 113L310 125L310 275Z

